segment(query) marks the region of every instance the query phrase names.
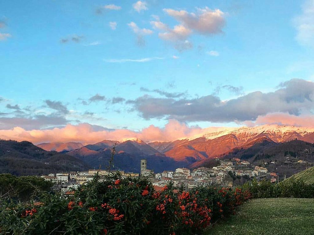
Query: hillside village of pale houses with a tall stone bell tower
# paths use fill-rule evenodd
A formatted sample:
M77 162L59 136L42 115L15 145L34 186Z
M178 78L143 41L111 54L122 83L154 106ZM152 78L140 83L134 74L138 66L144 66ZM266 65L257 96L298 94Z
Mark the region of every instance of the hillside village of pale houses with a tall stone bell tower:
M279 176L276 172L268 172L267 168L251 165L249 161L241 161L239 158L231 160L221 160L215 158L217 166L212 168L198 167L197 169L177 168L173 171L163 171L155 173L147 169L147 160L141 160L141 172L107 171L107 170L88 170L81 172L61 172L43 175L47 181L55 183L54 189L66 193L71 189L76 189L80 184L91 181L95 174L99 174L100 181L105 180L106 176L119 173L122 178L126 177L146 177L154 186L163 187L173 183L175 187L192 189L198 186L220 185L224 187L234 186L235 179L243 183L243 179L256 177L258 180L267 179L275 183Z

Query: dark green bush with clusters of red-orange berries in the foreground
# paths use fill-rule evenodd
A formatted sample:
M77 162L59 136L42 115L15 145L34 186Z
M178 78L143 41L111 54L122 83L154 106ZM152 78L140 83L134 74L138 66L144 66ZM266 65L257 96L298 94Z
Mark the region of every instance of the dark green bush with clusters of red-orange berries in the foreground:
M8 234L202 234L250 194L241 189L161 191L146 179L118 175L82 185L73 195L43 194L40 205L7 203L0 233Z

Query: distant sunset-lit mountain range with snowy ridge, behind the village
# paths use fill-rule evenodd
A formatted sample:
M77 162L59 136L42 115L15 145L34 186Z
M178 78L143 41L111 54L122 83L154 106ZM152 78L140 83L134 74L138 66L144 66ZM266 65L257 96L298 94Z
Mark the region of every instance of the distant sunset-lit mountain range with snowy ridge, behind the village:
M114 166L116 169L139 172L141 158L148 160L148 168L155 172L171 170L176 167L198 167L214 157L222 157L235 149L248 149L253 145L285 143L291 140L314 143L314 128L282 125L263 125L257 127L219 128L196 139L181 139L171 142L144 142L132 138L126 141L103 140L96 144L43 143L39 147L51 151L68 151L67 155L76 157L90 166L105 167L111 158L111 148L116 143ZM77 146L78 148L75 148Z

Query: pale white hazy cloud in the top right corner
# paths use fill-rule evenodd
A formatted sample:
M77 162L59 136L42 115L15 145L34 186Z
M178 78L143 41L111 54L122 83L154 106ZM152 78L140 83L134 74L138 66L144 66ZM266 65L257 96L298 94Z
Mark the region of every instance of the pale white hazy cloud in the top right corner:
M314 46L314 1L307 0L302 14L293 19L297 30L296 40L306 46Z

